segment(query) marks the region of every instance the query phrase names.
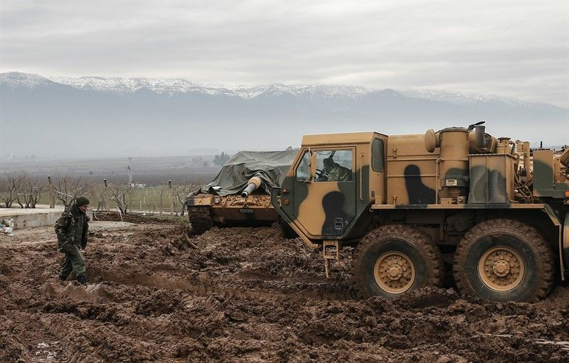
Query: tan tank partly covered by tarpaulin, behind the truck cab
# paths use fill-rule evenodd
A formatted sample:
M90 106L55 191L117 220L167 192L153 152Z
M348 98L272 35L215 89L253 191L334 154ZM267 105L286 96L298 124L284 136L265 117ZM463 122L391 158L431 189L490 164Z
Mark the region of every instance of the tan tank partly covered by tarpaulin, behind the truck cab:
M279 222L270 190L280 186L297 150L240 151L230 158L211 183L186 197L193 232L213 226L257 226ZM287 237L294 232L284 224Z

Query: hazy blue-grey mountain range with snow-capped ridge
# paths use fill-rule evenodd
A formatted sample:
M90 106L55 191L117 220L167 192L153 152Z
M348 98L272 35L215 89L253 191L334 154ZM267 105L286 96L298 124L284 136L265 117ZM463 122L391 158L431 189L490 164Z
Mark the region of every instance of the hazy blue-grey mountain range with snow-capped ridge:
M569 110L447 91L334 85L199 85L188 80L0 74L0 153L180 154L275 150L302 134L421 133L486 121L495 136L569 142ZM541 125L547 125L542 127ZM14 135L24 135L26 142ZM182 151L181 151L182 150ZM0 155L1 158L1 155Z

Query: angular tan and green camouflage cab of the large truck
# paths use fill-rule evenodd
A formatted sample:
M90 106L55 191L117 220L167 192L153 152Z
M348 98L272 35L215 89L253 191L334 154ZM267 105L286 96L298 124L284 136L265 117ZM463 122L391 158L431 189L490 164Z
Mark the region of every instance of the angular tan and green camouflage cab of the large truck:
M358 229L366 222L362 215L373 203L385 202L386 141L376 132L304 136L273 199L309 246L365 232Z

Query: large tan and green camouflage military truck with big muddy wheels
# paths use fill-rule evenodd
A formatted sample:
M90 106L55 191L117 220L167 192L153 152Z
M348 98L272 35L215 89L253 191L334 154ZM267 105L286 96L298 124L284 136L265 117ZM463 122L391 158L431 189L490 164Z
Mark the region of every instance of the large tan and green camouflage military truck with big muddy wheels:
M535 301L568 273L568 164L569 148L496 139L482 123L307 135L272 205L322 250L326 276L340 249L355 247L363 296L440 286L452 269L464 295ZM329 178L339 168L349 173Z

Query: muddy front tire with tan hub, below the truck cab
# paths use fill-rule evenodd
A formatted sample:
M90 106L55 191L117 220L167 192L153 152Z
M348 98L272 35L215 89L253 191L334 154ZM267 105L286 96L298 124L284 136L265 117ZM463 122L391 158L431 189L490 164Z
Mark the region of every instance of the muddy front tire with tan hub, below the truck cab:
M405 225L373 229L356 247L354 287L360 296L396 298L424 286L440 286L444 266L427 234Z

